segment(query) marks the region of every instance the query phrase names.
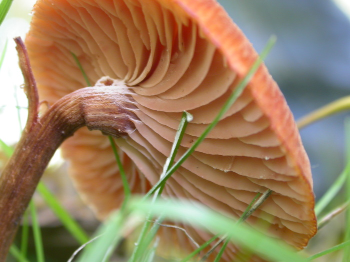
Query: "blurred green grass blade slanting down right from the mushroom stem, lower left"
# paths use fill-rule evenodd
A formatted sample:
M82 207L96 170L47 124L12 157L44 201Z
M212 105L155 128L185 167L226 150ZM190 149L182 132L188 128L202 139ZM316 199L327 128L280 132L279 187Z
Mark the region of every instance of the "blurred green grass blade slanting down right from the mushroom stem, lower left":
M88 235L79 226L78 223L70 216L70 214L62 207L59 201L54 195L47 189L47 187L40 182L37 186L37 191L44 199L48 207L53 211L57 218L61 221L62 225L71 234L76 241L82 245L89 240Z

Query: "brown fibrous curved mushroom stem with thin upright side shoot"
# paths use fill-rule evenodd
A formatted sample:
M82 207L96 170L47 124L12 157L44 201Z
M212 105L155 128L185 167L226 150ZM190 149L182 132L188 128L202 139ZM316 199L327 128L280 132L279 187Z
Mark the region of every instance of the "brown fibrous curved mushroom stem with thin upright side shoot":
M114 137L134 130L128 111L132 100L124 86L106 78L100 86L81 88L53 104L38 116L38 95L26 49L15 39L28 98L28 119L0 177L0 262L5 261L21 217L52 155L59 145L82 126ZM106 86L103 86L106 84Z

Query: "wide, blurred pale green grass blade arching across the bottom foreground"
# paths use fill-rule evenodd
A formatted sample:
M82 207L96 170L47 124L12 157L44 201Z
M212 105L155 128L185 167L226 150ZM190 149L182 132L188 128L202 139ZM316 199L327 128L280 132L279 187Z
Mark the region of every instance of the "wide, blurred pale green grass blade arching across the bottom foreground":
M174 222L185 222L198 228L210 230L210 232L226 233L234 243L246 248L253 253L271 262L304 262L306 259L295 253L281 241L269 238L261 232L254 230L245 224L236 224L231 218L218 214L201 204L191 204L185 201L164 201L158 199L155 203L149 200L130 200L130 212L137 215L151 212L155 216L164 214L166 219Z

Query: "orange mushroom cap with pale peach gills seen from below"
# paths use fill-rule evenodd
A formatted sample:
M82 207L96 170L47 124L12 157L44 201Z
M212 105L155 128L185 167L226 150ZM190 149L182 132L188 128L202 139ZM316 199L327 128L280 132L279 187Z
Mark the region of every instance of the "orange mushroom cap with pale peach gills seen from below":
M26 46L40 99L49 103L86 86L71 52L91 83L109 76L127 87L136 129L115 142L131 190L139 194L158 181L182 111L194 118L178 155L257 59L215 0L38 0ZM120 206L122 183L105 136L82 128L63 143L62 152L77 190L98 218ZM273 193L247 223L263 223L271 236L305 247L316 232L310 165L285 99L261 65L163 194L239 217L267 189ZM210 238L184 227L198 243ZM179 245L188 242L181 234L173 235L183 240ZM224 258L231 260L235 251L231 246Z

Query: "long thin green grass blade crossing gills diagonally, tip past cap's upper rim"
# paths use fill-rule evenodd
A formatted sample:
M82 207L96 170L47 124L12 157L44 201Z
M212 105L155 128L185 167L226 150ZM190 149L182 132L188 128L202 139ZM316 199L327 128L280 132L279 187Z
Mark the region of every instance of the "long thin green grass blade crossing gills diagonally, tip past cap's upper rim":
M207 134L215 127L221 117L226 113L226 111L231 107L231 105L235 102L238 96L243 92L245 86L249 83L252 76L255 74L256 70L259 68L261 62L267 56L268 52L272 48L275 43L275 37L271 36L268 40L265 48L261 52L260 56L254 64L251 66L250 70L246 74L246 76L237 84L237 87L234 89L228 100L224 103L220 112L214 118L214 120L207 126L201 136L193 143L193 145L188 148L188 150L180 157L180 159L166 172L166 175L161 178L152 189L145 195L145 198L149 197L153 194L161 185L164 185L165 181L176 171L176 169L181 166L181 164L192 154L192 152L197 148L197 146L204 140Z

